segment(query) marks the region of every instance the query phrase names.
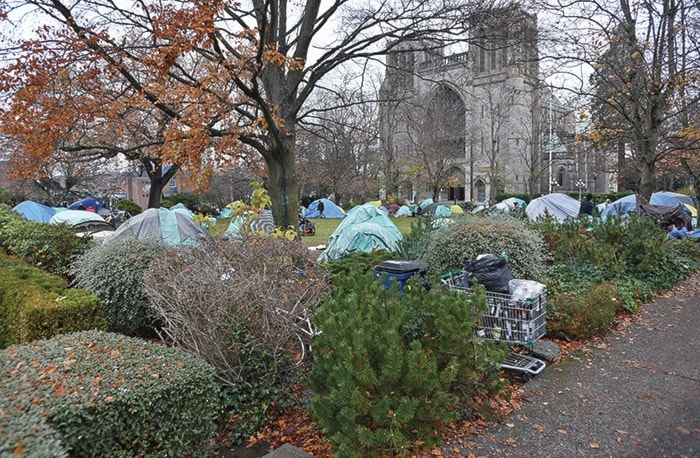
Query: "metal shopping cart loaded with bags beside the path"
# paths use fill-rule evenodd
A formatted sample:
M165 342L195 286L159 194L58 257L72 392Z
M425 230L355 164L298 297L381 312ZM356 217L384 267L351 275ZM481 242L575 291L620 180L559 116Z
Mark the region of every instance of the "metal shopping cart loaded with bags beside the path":
M453 291L473 294L471 288L462 285L463 272L455 272L443 276L443 282ZM482 339L505 342L511 348L515 345L526 347L532 351L536 340L545 335L547 320L547 294L540 291L528 295L525 299L514 300L510 294L486 291L488 310L481 317L476 329L476 335ZM532 356L511 351L501 367L520 372L522 378L539 374L545 368L545 363Z

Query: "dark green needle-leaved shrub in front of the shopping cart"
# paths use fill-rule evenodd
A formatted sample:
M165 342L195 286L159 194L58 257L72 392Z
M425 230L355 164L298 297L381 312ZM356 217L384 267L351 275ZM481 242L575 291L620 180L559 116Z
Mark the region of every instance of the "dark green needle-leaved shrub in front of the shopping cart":
M342 281L316 313L322 333L308 377L314 416L339 457L431 448L460 415L458 388L483 376L476 367L497 368L504 356L474 333L485 294L471 301L436 294L413 278L400 292L373 273Z

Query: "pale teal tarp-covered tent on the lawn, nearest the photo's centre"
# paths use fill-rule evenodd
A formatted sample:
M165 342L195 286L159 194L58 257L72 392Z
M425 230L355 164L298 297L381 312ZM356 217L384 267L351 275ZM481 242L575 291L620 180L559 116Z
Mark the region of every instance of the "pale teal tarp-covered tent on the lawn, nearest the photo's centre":
M371 203L359 205L348 212L328 237L328 248L318 257L318 262L340 259L353 251L395 251L402 239L403 235L386 213Z

